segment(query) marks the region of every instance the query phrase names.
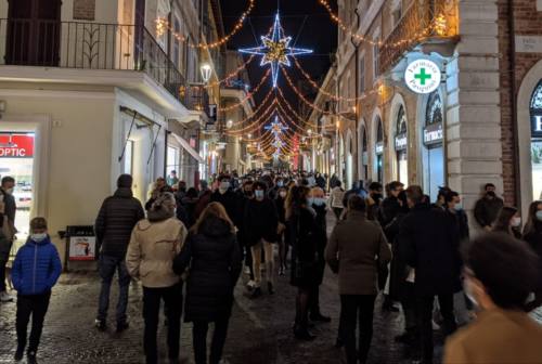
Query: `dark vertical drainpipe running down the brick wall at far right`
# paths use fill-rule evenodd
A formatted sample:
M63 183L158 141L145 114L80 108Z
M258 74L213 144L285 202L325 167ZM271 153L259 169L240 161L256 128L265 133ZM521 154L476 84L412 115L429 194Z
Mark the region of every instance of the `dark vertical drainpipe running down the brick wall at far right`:
M520 168L519 168L519 135L517 133L517 100L516 100L516 22L514 20L514 2L508 0L508 34L509 34L509 76L511 87L509 87L509 98L511 98L511 113L512 113L512 133L514 134L514 174L516 180L514 181L514 198L516 199L516 206L519 211L521 211L521 192L517 185L521 181ZM503 181L504 182L504 181ZM504 191L503 191L504 192Z

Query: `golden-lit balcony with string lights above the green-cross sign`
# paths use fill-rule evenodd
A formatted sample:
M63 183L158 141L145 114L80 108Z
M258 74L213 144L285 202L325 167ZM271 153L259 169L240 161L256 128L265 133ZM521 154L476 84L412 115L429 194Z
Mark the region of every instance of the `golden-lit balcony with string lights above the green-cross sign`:
M457 17L457 0L413 0L380 47L379 73L389 70L404 52L420 43L456 41Z

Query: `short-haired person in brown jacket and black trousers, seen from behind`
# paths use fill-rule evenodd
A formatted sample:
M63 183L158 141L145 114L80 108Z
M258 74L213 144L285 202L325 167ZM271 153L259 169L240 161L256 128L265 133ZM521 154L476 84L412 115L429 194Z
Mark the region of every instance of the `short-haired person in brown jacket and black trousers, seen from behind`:
M347 362L365 363L373 336L373 312L377 295L377 264L391 260L391 250L380 226L365 218L365 202L360 196L348 200L347 218L333 230L325 260L339 276L340 338ZM375 259L377 258L377 259ZM359 347L356 328L359 316Z

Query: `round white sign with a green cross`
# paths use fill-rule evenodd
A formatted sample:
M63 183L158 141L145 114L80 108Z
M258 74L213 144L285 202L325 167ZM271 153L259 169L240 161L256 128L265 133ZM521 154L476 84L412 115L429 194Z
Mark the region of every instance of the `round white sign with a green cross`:
M404 72L404 82L415 93L431 93L437 90L441 73L439 66L429 60L416 60Z

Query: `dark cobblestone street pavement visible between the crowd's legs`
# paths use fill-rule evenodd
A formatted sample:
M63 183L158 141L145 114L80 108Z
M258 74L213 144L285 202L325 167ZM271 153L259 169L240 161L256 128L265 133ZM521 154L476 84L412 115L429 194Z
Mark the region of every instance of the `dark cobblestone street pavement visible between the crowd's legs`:
M244 276L243 280L246 281ZM94 272L65 274L54 288L49 313L46 317L40 363L142 363L143 322L142 289L139 284L130 288L130 328L115 334L113 328L99 333L93 327L98 303L99 278ZM116 302L116 287L112 292L112 307ZM267 363L343 363L343 352L333 347L336 338L339 299L336 277L326 272L321 289L321 306L333 318L331 324L318 325L313 342L299 342L293 338L295 289L287 277L279 277L276 294L250 300L240 282L235 291L235 307L229 330L224 358L232 364ZM112 310L109 310L112 311ZM113 326L114 310L109 313ZM539 315L542 318L542 315ZM400 334L402 318L396 313L380 313L379 302L375 311L373 347L369 363L410 363L405 348L393 342ZM191 327L182 326L181 358L192 363ZM164 358L165 329L160 327L159 344ZM0 306L0 363L11 363L15 351L15 303ZM437 355L441 352L441 340Z

